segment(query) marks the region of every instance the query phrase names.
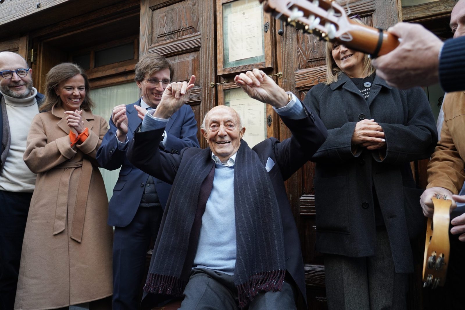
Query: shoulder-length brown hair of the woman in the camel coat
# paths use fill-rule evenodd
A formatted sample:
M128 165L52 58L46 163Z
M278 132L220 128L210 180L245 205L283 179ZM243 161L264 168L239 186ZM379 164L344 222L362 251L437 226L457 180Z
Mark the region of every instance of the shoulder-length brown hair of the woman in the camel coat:
M55 87L57 87L61 82L71 79L75 75L82 75L84 78L84 86L86 87L86 95L81 104L81 109L85 111L91 111L95 107L95 104L90 99L90 85L87 74L80 66L73 64L71 62L63 62L59 65L54 66L47 73L45 81L45 99L40 105L40 111L50 111L52 107L61 107L62 102L60 96L57 96L55 93Z

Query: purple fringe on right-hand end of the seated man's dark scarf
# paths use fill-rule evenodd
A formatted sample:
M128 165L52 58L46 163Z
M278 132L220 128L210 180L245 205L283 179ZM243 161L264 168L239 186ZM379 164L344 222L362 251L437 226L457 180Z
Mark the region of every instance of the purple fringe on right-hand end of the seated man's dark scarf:
M260 291L269 292L281 290L286 276L286 270L260 272L249 277L249 281L236 285L239 297L239 307L244 309Z

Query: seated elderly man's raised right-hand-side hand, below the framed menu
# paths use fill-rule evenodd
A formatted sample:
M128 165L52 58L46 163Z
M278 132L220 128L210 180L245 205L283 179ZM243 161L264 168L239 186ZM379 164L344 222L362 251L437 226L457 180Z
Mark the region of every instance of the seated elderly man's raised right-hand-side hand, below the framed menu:
M259 69L240 73L234 77L234 81L249 97L268 103L277 109L286 106L289 102L289 96L284 89Z

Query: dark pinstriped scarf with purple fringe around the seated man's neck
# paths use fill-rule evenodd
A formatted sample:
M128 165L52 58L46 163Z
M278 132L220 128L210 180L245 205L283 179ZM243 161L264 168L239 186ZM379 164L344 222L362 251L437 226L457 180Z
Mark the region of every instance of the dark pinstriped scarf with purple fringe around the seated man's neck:
M213 175L211 151L206 148L190 158L177 176L153 250L146 292L182 296L197 251ZM244 308L260 291L281 290L286 274L283 228L271 178L244 140L234 165L234 209L234 284L239 307Z

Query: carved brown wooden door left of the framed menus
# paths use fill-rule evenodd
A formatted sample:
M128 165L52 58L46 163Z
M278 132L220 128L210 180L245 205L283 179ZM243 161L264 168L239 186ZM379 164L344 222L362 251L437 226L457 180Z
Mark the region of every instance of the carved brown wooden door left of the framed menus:
M141 0L140 55L159 53L173 64L174 81L196 76L187 102L198 127L205 113L215 105L216 40L214 0ZM205 139L197 132L200 147Z

